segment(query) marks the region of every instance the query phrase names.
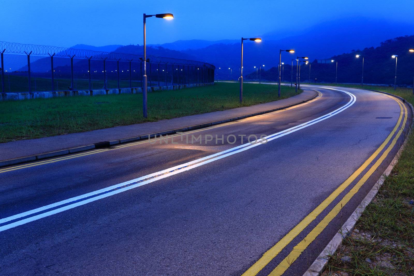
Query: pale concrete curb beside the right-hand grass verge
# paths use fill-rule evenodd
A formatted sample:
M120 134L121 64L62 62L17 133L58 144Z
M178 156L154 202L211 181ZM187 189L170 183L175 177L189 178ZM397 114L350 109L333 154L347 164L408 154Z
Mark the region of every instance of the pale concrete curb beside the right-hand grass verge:
M308 86L309 87L309 86ZM345 86L338 86L338 87L344 87L344 88L353 88L355 87L345 87ZM356 88L356 89L362 89L362 88ZM414 108L411 103L405 101L405 99L401 98L400 96L390 94L384 91L376 91L371 89L362 89L367 91L374 91L379 92L383 94L387 94L390 96L394 96L396 98L401 99L404 103L407 103L411 109L411 113L414 116ZM401 152L404 149L405 144L407 143L406 138L412 131L414 121L411 122L409 126L409 132L404 137L404 143L400 147L400 149L397 151L397 154L395 154L394 158L392 159L390 165L385 169L383 175L378 179L378 181L375 183L375 185L372 187L372 189L368 192L366 197L362 200L362 202L356 207L355 211L349 216L347 221L342 225L341 229L335 234L335 236L330 240L330 242L326 245L324 250L319 254L319 256L315 259L315 261L309 266L308 270L303 274L303 276L319 276L325 271L325 266L327 262L329 261L329 256L335 254L336 250L339 248L340 245L342 245L342 242L345 237L348 235L351 235L352 230L354 230L355 224L358 221L358 219L361 217L362 212L365 210L366 206L371 203L371 201L375 198L375 196L378 193L378 190L380 189L381 185L383 185L385 178L390 175L392 169L394 168L395 164L397 164L398 159L400 158Z

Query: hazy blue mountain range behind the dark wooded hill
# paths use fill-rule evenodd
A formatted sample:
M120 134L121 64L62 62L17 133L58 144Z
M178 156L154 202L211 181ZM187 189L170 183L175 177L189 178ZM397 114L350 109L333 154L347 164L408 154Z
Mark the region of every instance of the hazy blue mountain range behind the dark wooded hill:
M293 48L296 50L295 54L284 53L282 55L282 61L286 63L290 63L296 55L307 55L311 60L324 59L338 53L347 53L352 49L379 46L380 41L385 41L390 37L412 35L413 30L414 25L363 17L327 21L301 31L276 30L263 34L262 43L251 41L244 43L244 70L246 73L252 72L253 66L259 64L269 67L277 66L279 49ZM216 67L232 67L237 72L239 71L240 42L238 40L213 44L190 40L163 45L167 47L168 44L180 49L183 53L194 56L196 60L212 63ZM209 45L204 48L195 48L203 44Z

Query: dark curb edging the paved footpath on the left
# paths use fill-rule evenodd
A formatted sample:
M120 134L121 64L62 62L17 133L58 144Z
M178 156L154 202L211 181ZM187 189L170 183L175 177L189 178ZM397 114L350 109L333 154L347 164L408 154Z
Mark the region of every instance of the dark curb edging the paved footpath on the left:
M311 90L316 91L315 89L311 89ZM318 92L318 91L316 91L316 92ZM164 132L144 134L144 135L140 135L140 136L128 137L128 138L114 140L114 141L98 142L98 143L95 143L95 144L91 144L91 145L87 145L87 146L79 146L79 147L75 147L75 148L71 148L71 149L63 149L63 150L59 150L59 151L46 152L46 153L43 153L43 154L36 154L36 155L31 155L31 156L23 156L23 157L18 157L18 158L2 160L2 161L0 161L0 168L1 167L6 167L6 166L22 164L22 163L27 163L27 162L38 161L38 160L42 160L42 159L46 159L46 158L52 158L52 157L57 157L57 156L63 156L63 155L78 153L78 152L81 152L81 151L88 151L88 150L92 150L92 149L101 149L101 148L106 148L106 147L114 146L114 145L118 145L118 144L136 142L136 141L145 140L145 139L148 139L148 138L154 138L154 137L160 136L160 135L169 135L169 134L176 134L177 132L198 130L198 129L202 129L202 128L209 127L209 126L212 126L212 125L219 125L219 124L223 124L223 123L226 123L226 122L240 120L240 119L244 119L244 118L248 118L248 117L253 117L253 116L257 116L257 115L261 115L261 114L265 114L265 113L274 112L274 111L277 111L277 110L282 110L282 109L289 108L289 107L292 107L292 106L297 106L299 104L306 103L308 101L313 100L318 95L319 95L319 93L316 93L315 96L312 96L312 97L308 98L305 101L300 101L298 103L292 103L292 104L287 105L287 106L282 106L282 107L279 107L279 108L260 111L260 112L257 112L257 113L252 113L252 114L243 115L243 116L239 116L239 117L229 118L229 119L226 119L226 120L209 122L209 123L205 123L205 124L202 124L202 125L193 125L193 126L182 127L182 128L174 129L174 130L167 130L167 131L164 131Z

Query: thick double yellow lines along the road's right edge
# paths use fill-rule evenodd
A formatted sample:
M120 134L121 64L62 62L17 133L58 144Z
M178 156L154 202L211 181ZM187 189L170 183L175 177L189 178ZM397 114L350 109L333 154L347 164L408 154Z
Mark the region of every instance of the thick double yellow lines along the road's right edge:
M387 95L388 96L388 95ZM375 164L367 171L365 175L357 182L357 184L342 198L342 200L332 209L332 211L323 218L323 220L318 223L318 225L311 230L311 232L304 238L298 245L294 247L294 249L288 254L288 256L270 273L272 276L282 275L286 269L300 256L303 250L310 245L310 243L315 240L315 238L322 232L323 229L332 221L332 219L339 213L339 211L343 208L347 202L358 192L359 188L366 182L366 180L372 175L372 173L380 166L382 161L387 157L389 152L395 146L398 138L401 136L402 131L404 130L404 126L407 122L407 108L403 105L400 100L389 96L390 98L397 101L398 105L400 106L400 117L397 121L392 132L388 135L385 141L380 145L380 147L347 179L345 180L332 194L329 195L321 204L319 204L308 216L303 218L303 220L298 223L292 230L289 231L279 242L277 242L272 248L270 248L263 256L255 262L250 268L243 273L243 276L252 276L258 274L274 257L281 252L286 245L288 245L299 233L301 233L315 218L327 208L329 204L331 204L335 198L339 196L341 192L343 192L350 184L353 182L358 175L360 175L363 170L365 170L369 164L380 154L380 152L385 148L385 146L390 142L392 136L394 136L395 132L397 132L398 128L400 127L401 120L404 115L404 121L402 123L402 127L397 132L397 135L392 140L391 144L388 148L384 151L384 153L378 158ZM404 111L403 111L404 107Z

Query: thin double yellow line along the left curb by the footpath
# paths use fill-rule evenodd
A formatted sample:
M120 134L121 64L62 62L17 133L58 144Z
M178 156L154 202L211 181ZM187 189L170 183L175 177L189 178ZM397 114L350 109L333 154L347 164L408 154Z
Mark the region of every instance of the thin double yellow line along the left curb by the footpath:
M316 99L320 98L320 96L322 95L322 93L320 93L319 91L317 91L317 92L320 95L317 96L316 98L312 99L311 101L306 102L306 103L313 102ZM298 104L297 106L291 106L290 108L286 108L286 109L282 109L282 110L277 110L277 111L274 111L274 112L271 112L271 113L267 113L267 114L262 114L262 115L270 115L270 114L278 113L278 112L281 112L281 111L290 110L292 108L296 108L296 107L302 106L303 104L306 104L306 103L301 103L301 104ZM195 133L195 132L199 132L199 131L209 130L209 129L216 128L216 127L223 127L223 126L230 125L230 124L234 124L234 123L237 123L237 122L242 122L244 120L248 120L248 119L254 118L254 117L256 117L256 116L248 117L248 118L243 118L243 119L235 120L235 121L232 121L232 122L226 122L226 123L222 123L222 124L214 125L214 126L210 126L210 127L205 127L205 128L200 129L200 130L192 130L192 131L188 131L188 132L183 132L182 134L187 135L187 134L191 134L191 133ZM179 134L171 134L171 135L168 135L168 138L169 137L179 136L179 135L182 135L182 134L181 133L179 133ZM158 141L160 139L167 139L167 137L155 138L155 139L151 139L151 141ZM137 144L144 144L144 143L148 143L148 142L149 142L149 140L142 140L142 141L132 142L132 143L123 144L123 145L116 145L116 146L113 146L111 148L95 149L95 150L91 150L91 151L87 151L87 152L82 152L82 153L74 154L74 155L70 155L70 156L62 156L62 157L57 157L57 158L53 158L53 159L47 159L47 160L44 160L44 161L35 161L34 163L27 163L27 164L17 165L17 166L13 166L13 167L9 167L9 168L0 169L0 173L6 173L6 172L9 172L9 171L12 171L12 170L19 170L19 169L30 168L30 167L34 167L34 166L45 165L45 164L49 164L49 163L55 163L55 162L58 162L58 161L69 160L69 159L73 159L73 158L77 158L77 157L82 157L82 156L88 156L88 155L91 155L91 154L97 154L97 153L102 152L102 151L108 151L108 150L113 150L113 149L122 149L122 148L125 148L125 147L128 147L128 146L135 146Z

